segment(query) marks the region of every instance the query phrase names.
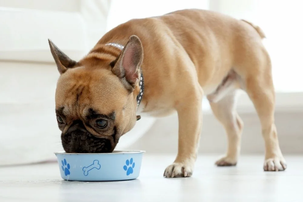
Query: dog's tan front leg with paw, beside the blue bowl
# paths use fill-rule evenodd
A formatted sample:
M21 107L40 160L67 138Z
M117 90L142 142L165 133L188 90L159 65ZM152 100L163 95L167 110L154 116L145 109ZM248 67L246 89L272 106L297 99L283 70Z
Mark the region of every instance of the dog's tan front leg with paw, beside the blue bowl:
M196 160L198 142L202 125L202 97L200 87L187 92L176 106L179 121L178 155L169 165L164 177L190 177Z

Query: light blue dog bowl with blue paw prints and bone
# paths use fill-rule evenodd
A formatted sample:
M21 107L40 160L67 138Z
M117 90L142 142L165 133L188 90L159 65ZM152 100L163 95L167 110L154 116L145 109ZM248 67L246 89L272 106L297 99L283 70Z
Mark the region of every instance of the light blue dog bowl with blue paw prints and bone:
M140 174L145 151L128 150L113 153L55 153L61 177L77 181L132 180Z

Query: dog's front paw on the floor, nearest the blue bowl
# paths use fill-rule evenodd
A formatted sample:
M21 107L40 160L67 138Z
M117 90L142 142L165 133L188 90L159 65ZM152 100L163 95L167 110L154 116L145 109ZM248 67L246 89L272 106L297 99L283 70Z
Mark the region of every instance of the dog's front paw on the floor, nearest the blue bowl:
M165 171L164 177L190 177L192 175L192 166L183 163L173 163Z

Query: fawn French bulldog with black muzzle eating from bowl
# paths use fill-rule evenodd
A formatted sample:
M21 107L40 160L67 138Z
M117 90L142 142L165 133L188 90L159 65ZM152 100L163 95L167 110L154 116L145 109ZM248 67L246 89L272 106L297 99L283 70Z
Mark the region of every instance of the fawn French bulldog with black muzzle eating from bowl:
M271 60L261 28L217 12L186 9L133 19L108 31L80 61L49 40L60 77L55 92L66 152L112 152L140 114L178 114L178 154L164 177L190 177L202 126L202 98L224 126L228 149L215 164L234 166L243 122L236 91L253 102L265 141L264 171L283 171L274 122Z

